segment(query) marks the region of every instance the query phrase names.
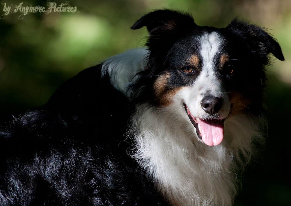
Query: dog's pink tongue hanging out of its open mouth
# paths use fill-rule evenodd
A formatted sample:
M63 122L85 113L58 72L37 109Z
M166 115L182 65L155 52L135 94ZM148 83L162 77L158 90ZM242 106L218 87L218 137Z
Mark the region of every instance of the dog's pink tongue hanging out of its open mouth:
M215 120L198 121L202 140L206 145L219 145L223 139L223 123Z

